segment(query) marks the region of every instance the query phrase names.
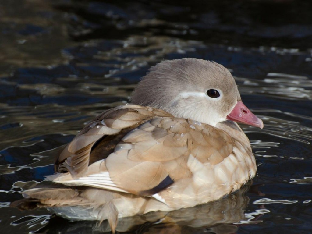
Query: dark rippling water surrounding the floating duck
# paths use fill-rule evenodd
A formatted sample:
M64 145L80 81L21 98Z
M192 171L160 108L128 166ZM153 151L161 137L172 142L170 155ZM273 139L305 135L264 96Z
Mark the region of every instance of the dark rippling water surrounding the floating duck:
M126 103L150 66L197 57L231 69L263 120L243 126L257 176L224 200L127 218L119 231L312 233L312 2L116 2L0 2L0 232L107 232L9 204L53 173L87 121Z

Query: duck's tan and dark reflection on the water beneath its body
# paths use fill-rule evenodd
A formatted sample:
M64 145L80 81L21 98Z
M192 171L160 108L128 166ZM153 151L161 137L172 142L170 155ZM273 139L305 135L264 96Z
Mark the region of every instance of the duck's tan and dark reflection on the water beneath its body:
M232 223L245 219L244 211L249 202L245 195L249 189L245 185L237 193L219 199L215 202L188 207L169 212L150 212L144 215L120 218L116 230L127 233L236 233L237 225ZM110 232L107 221L100 226L96 222L66 222L58 217L52 217L49 224L38 232L46 230L60 233L106 233Z

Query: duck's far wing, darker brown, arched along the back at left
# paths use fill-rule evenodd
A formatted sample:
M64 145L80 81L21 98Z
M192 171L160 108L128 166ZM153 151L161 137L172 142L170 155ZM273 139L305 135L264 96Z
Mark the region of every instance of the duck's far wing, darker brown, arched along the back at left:
M106 110L65 147L56 159L55 171L70 172L77 177L84 175L90 163L106 158L124 134L153 118L154 112L159 116L172 116L161 110L138 105Z

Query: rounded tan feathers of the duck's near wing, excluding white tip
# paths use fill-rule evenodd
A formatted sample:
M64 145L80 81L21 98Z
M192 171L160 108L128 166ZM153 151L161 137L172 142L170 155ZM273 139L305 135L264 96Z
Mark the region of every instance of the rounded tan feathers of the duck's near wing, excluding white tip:
M190 178L190 155L217 164L232 153L234 142L224 131L175 117L155 117L131 130L105 161L111 180L130 193L154 191L168 176ZM171 183L168 183L168 186Z

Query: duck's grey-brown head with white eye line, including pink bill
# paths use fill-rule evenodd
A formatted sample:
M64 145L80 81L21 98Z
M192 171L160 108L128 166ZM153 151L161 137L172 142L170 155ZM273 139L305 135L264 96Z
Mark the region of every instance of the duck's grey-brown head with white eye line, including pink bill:
M241 101L231 73L213 61L162 61L142 78L130 101L212 126L230 119L263 128L261 119Z

